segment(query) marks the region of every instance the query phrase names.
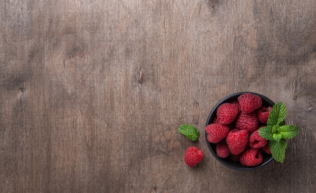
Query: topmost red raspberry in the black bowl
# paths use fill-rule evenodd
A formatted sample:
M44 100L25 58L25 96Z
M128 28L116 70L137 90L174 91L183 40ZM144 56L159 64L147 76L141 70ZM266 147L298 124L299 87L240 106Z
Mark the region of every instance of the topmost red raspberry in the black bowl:
M251 93L244 93L238 96L240 109L244 113L250 113L262 105L261 97Z

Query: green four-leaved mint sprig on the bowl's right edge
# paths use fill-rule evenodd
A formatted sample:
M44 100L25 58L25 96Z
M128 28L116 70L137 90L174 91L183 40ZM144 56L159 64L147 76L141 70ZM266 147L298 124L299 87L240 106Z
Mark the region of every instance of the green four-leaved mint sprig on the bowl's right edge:
M286 139L295 137L299 132L295 125L284 125L285 116L286 106L283 103L275 104L269 114L267 126L258 130L262 138L269 140L272 157L281 163L285 158Z

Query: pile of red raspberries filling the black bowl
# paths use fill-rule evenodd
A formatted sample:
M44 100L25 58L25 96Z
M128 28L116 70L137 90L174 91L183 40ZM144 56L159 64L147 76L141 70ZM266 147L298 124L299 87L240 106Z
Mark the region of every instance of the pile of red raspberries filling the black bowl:
M259 135L258 129L267 125L271 109L262 106L260 96L252 93L220 105L212 123L205 127L207 140L216 144L217 156L244 166L262 163L262 151L271 151L268 140Z

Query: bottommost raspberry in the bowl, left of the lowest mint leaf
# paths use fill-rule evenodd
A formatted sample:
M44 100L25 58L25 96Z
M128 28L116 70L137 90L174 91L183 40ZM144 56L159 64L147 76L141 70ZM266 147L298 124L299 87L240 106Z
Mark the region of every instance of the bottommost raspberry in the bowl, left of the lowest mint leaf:
M264 155L260 149L248 149L239 157L241 165L256 166L264 161Z

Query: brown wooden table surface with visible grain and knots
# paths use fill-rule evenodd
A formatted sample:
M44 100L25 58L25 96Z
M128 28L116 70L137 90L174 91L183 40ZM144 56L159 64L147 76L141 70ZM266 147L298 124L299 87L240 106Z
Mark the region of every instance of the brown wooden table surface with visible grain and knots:
M315 18L308 0L1 0L0 192L316 192ZM300 127L284 163L209 152L209 112L240 91Z

